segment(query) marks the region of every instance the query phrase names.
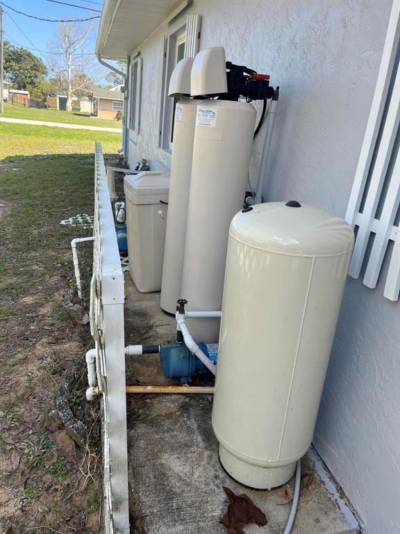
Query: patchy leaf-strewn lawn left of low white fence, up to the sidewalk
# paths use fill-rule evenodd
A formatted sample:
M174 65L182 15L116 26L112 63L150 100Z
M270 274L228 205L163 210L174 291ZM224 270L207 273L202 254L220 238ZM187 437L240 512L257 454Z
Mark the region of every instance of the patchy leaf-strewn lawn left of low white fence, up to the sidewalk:
M101 526L99 407L85 401L93 342L65 307L76 302L70 241L92 231L60 225L93 212L94 140L120 145L108 132L0 123L0 532ZM91 243L79 255L87 296Z

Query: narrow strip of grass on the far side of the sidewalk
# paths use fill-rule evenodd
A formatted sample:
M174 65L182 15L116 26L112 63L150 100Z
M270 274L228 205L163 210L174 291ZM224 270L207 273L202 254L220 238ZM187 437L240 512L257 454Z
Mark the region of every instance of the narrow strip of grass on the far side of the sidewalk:
M98 119L78 111L57 111L56 109L26 108L18 104L4 104L4 113L0 115L10 119L47 120L48 122L63 122L67 124L86 124L88 126L104 126L122 129L121 120Z

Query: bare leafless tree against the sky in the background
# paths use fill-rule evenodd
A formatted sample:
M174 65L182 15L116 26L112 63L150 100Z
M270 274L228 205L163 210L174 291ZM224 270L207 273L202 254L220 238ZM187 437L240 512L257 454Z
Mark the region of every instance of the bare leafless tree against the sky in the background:
M91 22L60 22L49 50L53 52L51 72L56 75L67 92L67 111L72 111L72 95L88 94L93 86L92 56L86 54L84 45L90 40Z

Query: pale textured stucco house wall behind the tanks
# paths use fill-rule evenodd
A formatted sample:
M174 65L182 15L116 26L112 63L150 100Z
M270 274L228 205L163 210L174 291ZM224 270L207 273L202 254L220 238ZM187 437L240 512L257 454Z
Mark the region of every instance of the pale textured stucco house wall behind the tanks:
M158 148L158 44L202 15L200 47L271 74L281 99L265 200L296 199L344 216L390 13L390 0L194 0L142 47L141 133L130 163L152 168ZM251 161L255 184L261 130ZM328 369L315 444L365 524L400 532L399 305L349 280ZM310 369L310 372L312 370Z

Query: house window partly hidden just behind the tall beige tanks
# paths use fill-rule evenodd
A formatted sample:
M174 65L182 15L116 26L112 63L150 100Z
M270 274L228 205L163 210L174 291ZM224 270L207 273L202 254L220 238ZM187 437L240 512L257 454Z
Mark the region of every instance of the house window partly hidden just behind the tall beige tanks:
M185 57L186 29L181 29L169 36L167 48L167 65L163 94L163 125L161 128L160 145L170 152L172 149L172 130L174 127L175 101L168 96L169 79L176 63Z

